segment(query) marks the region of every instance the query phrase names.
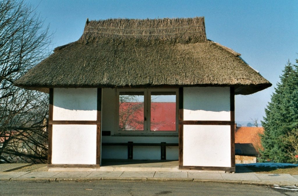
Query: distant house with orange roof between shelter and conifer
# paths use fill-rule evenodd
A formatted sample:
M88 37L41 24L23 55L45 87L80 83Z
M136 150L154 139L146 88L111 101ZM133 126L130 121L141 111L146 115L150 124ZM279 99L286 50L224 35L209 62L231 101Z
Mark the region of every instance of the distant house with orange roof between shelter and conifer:
M260 134L263 127L240 126L235 131L235 159L236 163L256 163L260 149L263 149Z

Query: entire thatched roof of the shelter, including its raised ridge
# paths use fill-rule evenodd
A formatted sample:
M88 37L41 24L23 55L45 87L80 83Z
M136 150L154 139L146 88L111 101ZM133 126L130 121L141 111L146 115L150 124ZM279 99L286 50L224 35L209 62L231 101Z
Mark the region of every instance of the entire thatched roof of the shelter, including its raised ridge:
M271 86L239 56L207 40L203 17L87 20L78 41L57 47L15 85L44 92L53 87L234 86L236 94Z

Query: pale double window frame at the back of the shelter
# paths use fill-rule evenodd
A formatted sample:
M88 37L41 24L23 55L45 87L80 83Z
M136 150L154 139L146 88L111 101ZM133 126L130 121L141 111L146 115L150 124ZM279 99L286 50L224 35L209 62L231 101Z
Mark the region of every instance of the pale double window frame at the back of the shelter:
M144 92L144 130L119 130L119 92ZM151 92L176 93L176 131L151 131ZM178 135L179 114L178 88L116 88L115 135Z

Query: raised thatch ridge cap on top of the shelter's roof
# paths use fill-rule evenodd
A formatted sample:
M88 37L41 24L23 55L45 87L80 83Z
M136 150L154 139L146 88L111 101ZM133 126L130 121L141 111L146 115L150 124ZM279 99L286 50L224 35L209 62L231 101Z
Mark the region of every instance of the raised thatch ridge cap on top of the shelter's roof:
M195 17L88 21L79 42L99 42L104 39L137 40L149 44L207 41L204 17Z

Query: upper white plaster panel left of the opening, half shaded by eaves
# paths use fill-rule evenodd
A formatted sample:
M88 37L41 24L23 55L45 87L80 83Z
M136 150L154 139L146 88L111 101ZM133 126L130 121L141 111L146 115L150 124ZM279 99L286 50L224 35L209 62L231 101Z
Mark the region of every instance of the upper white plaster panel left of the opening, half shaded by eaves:
M96 88L54 88L53 120L96 121Z

